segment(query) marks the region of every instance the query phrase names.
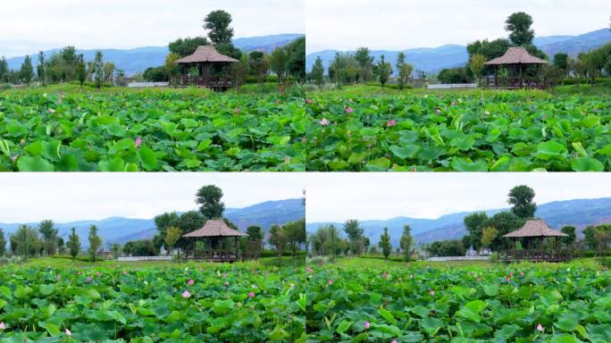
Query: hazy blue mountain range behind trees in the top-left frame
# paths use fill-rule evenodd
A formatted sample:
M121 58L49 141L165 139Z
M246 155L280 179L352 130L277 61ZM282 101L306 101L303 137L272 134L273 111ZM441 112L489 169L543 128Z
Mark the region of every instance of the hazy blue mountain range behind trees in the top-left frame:
M244 52L264 51L272 52L279 46L286 46L297 38L304 37L303 34L287 33L280 35L269 35L261 37L235 38L233 45ZM61 49L45 51L46 56L58 53ZM94 59L96 49L77 50L77 54L83 54L86 61ZM133 75L146 68L156 67L165 63L165 56L169 54L168 46L144 46L133 49L101 49L105 61L112 61L117 69L122 69L127 75ZM32 55L38 52L32 52ZM31 56L31 55L30 55ZM10 69L18 70L25 56L17 56L7 59Z

